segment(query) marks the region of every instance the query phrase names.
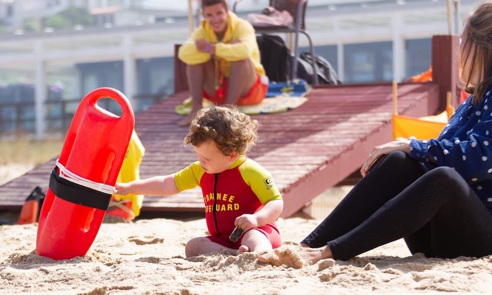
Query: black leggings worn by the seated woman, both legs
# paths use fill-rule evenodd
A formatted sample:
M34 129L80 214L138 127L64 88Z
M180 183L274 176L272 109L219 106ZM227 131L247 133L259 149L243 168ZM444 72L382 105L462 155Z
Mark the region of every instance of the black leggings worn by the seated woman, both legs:
M399 238L412 254L492 254L492 214L452 168L427 170L393 152L361 179L304 240L347 260Z

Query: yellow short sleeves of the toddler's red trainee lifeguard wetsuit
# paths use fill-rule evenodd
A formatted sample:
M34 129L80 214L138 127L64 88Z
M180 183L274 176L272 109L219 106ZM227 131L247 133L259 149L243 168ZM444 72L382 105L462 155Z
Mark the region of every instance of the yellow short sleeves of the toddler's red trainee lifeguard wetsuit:
M262 204L266 204L273 200L282 200L282 196L276 185L265 183L265 179L271 178L271 174L255 161L240 156L228 169L239 167L239 172L244 182L251 188L253 193L258 197ZM183 170L174 175L174 182L180 191L194 188L200 185L200 179L205 174L200 162L191 163ZM240 181L238 179L238 181ZM231 185L233 185L231 183Z

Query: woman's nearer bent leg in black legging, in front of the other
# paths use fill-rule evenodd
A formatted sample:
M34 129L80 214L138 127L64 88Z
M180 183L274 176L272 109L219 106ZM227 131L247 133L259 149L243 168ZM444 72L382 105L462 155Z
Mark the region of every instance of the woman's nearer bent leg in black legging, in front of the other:
M347 260L411 236L428 223L428 255L454 258L492 254L492 215L466 181L449 167L429 171L358 227L329 241L328 247L335 259Z

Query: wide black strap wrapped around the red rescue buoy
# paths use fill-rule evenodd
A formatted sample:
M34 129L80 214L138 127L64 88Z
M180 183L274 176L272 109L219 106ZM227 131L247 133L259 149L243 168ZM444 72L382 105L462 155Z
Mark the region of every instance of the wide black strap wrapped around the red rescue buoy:
M111 201L111 194L105 194L66 180L58 175L56 169L51 172L50 189L60 199L101 210L107 210L109 201Z

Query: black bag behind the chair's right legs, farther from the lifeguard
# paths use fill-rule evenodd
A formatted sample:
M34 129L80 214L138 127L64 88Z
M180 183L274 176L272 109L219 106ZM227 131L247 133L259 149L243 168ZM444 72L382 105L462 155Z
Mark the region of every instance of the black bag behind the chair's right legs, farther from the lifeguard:
M319 84L338 85L338 75L332 64L321 56L314 56L316 73ZM303 52L297 58L297 77L306 80L308 84L314 83L314 71L312 69L311 54Z

